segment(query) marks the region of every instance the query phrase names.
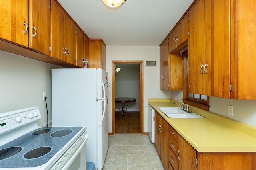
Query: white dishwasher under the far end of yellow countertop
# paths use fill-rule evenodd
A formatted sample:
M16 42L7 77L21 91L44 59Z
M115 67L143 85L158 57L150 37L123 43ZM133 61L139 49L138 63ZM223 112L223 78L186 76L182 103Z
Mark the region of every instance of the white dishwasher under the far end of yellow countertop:
M152 143L155 142L155 110L148 105L148 135Z

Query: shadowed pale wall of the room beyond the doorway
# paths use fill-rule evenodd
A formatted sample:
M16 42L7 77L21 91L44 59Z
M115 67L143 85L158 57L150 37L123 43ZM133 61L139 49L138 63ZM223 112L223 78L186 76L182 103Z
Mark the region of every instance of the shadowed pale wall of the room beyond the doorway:
M140 71L139 64L117 64L121 71L115 76L115 97L136 98L135 102L127 103L127 110L140 110ZM125 104L127 106L127 104ZM116 103L115 110L122 108L121 103Z

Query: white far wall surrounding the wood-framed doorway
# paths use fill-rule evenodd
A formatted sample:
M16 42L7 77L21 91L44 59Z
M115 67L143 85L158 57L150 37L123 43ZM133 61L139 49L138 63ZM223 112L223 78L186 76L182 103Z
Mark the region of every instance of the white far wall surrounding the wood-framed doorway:
M160 47L159 46L106 46L106 71L109 77L109 132L112 132L112 61L156 60L156 67L144 68L144 132L147 128L149 98L171 98L171 91L160 90ZM122 68L121 68L122 69Z

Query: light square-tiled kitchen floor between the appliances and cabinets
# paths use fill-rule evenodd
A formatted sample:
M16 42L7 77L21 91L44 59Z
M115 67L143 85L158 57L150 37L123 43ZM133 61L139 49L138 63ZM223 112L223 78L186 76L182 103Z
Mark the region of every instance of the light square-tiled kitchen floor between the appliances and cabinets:
M164 170L148 135L109 135L103 170Z

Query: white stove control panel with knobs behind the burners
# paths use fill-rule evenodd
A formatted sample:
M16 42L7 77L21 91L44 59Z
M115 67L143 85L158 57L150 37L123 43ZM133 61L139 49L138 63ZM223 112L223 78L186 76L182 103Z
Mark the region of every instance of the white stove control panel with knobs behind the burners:
M38 107L28 107L0 114L0 135L41 119Z

